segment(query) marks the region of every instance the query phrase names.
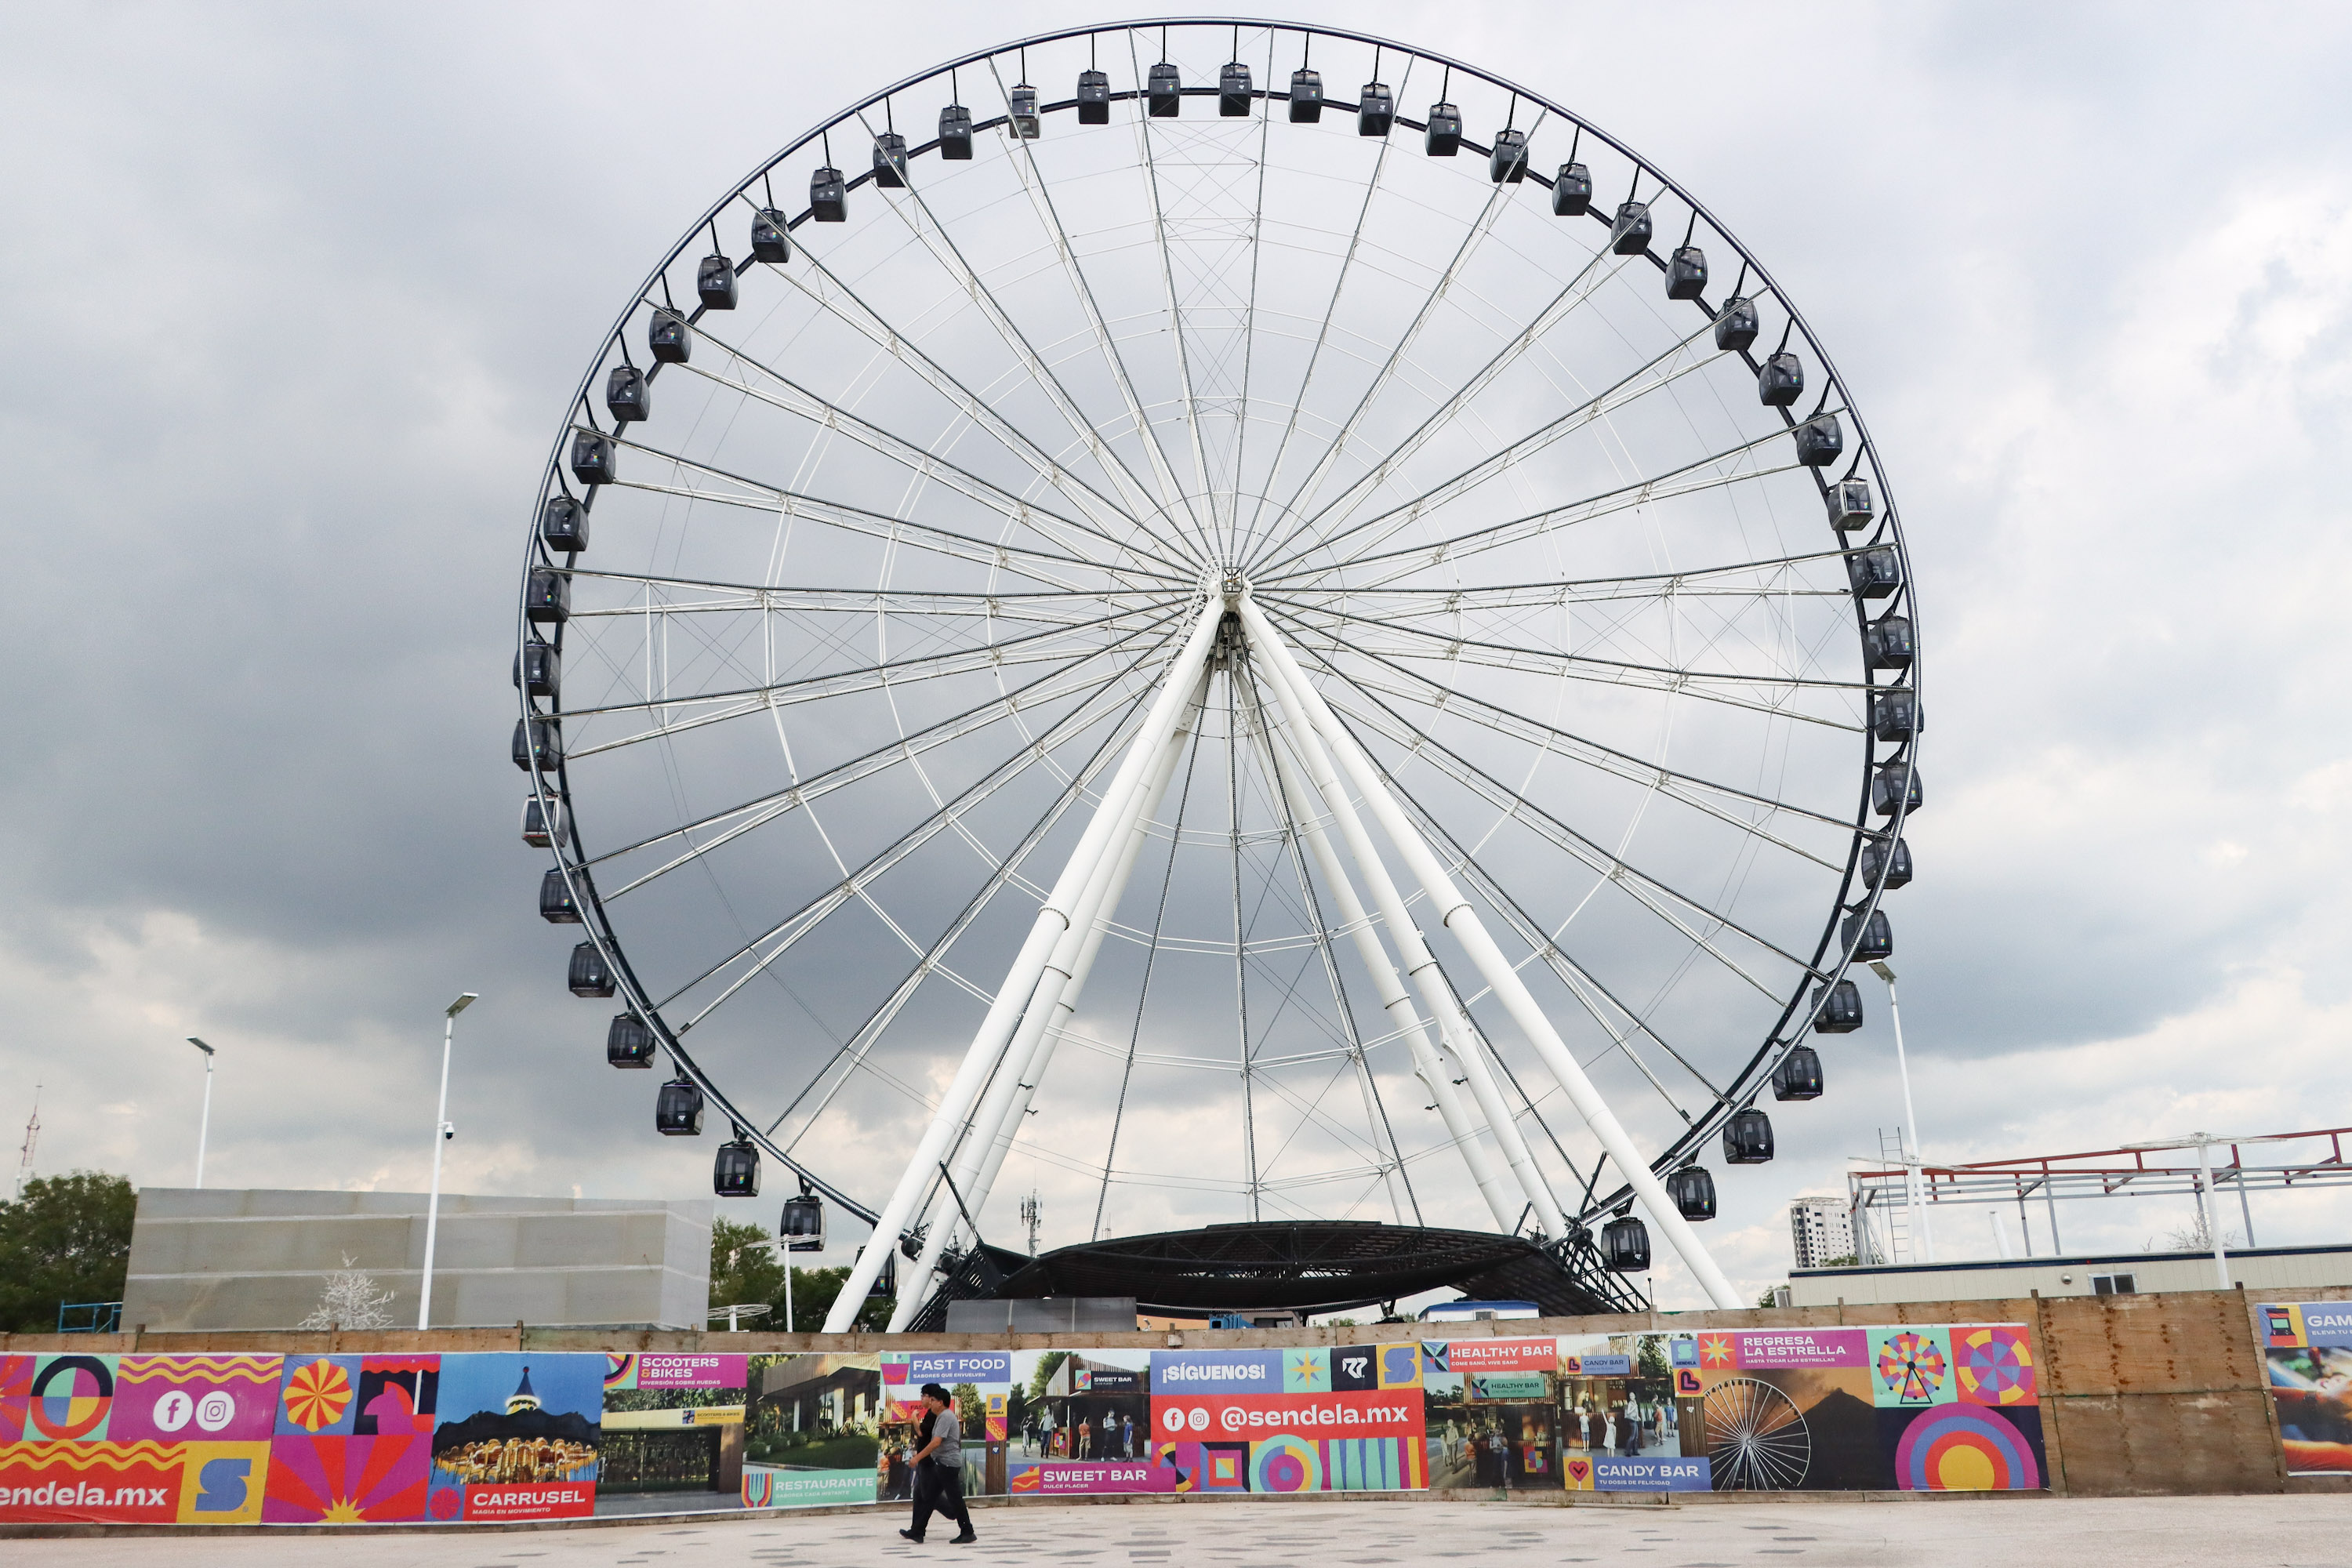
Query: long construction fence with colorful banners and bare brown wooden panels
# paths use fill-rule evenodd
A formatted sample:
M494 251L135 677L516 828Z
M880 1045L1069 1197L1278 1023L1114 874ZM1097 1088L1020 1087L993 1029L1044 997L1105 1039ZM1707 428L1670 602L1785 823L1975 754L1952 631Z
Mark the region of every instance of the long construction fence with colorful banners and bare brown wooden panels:
M974 1497L2277 1493L2352 1307L2244 1293L1061 1335L0 1338L0 1523L501 1523Z

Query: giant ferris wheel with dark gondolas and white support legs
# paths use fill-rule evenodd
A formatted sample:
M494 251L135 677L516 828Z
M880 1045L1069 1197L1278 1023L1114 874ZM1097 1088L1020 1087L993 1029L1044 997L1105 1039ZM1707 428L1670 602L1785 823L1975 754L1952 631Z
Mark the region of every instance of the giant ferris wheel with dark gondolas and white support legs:
M828 1328L1018 1190L1656 1225L1743 1305L1708 1161L1820 1093L1910 879L1910 562L1792 301L1336 28L1049 33L762 160L597 341L517 637L569 985L722 1194L875 1225Z

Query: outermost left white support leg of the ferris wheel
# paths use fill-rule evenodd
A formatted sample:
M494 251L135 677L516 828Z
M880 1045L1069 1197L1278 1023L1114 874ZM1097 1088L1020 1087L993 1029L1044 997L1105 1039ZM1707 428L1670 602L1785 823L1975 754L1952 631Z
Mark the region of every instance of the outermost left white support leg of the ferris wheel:
M1094 875L1096 863L1110 846L1112 830L1129 813L1136 792L1145 785L1145 773L1157 759L1160 748L1167 743L1167 733L1176 724L1185 693L1192 691L1195 670L1209 656L1209 644L1216 637L1216 623L1223 614L1225 602L1209 595L1209 602L1200 611L1200 621L1192 625L1192 635L1185 637L1176 658L1169 661L1157 701L1152 701L1150 712L1143 717L1143 726L1127 748L1127 757L1120 762L1120 771L1112 776L1110 788L1103 790L1103 799L1094 809L1094 820L1087 823L1084 837L1080 837L1077 849L1070 851L1068 865L1061 867L1061 877L1054 882L1054 891L1047 896L1044 907L1037 910L1037 922L1030 926L1028 940L1021 943L1021 954L1007 971L1004 985L997 987L995 1001L988 1004L988 1016L981 1020L978 1032L971 1037L971 1046L964 1051L964 1065L955 1070L955 1081L948 1084L948 1093L941 1098L938 1112L931 1117L931 1126L924 1128L922 1140L915 1145L915 1157L908 1159L896 1190L891 1190L889 1204L884 1204L882 1213L875 1218L875 1234L868 1237L863 1248L858 1248L858 1260L849 1267L849 1279L842 1281L842 1293L835 1298L833 1312L826 1314L826 1333L849 1331L858 1307L866 1305L866 1293L882 1272L882 1260L894 1246L898 1246L898 1232L906 1229L915 1213L915 1204L922 1199L922 1192L931 1185L931 1178L938 1171L938 1161L948 1154L948 1145L955 1140L957 1131L962 1131L974 1100L981 1098L988 1074L995 1072L1000 1058L1004 1056L1004 1046L1014 1032L1014 1020L1025 1009L1030 992L1037 990L1037 976L1044 971L1044 964L1054 952L1054 943L1070 929L1070 910L1080 893L1084 893L1087 879Z

